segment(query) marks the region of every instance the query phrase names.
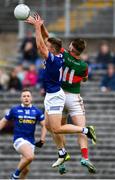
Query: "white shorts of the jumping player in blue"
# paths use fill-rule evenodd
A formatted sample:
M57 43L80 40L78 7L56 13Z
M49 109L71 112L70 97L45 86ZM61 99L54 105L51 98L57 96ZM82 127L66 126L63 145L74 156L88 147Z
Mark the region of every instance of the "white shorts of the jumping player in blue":
M62 114L65 104L65 93L61 89L56 93L46 93L44 106L48 114Z

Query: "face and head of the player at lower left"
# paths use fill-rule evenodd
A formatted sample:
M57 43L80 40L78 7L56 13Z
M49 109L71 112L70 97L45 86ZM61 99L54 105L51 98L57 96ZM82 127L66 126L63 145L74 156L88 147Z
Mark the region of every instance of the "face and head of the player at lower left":
M22 92L21 101L25 106L29 106L32 102L32 95L29 91Z

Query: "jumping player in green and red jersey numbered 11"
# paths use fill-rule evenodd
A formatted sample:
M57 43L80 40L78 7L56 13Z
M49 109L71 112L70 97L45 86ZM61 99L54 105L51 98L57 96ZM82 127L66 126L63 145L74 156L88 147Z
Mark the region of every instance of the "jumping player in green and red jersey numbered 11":
M88 78L88 65L81 60L80 54L86 47L82 39L74 39L69 46L69 51L62 49L64 56L63 84L62 88L66 94L65 107L71 116L74 125L84 127L86 125L85 109L80 96L81 81ZM93 128L93 127L92 127ZM95 173L96 169L88 158L88 143L85 134L78 134L78 142L81 148L81 164L88 171Z

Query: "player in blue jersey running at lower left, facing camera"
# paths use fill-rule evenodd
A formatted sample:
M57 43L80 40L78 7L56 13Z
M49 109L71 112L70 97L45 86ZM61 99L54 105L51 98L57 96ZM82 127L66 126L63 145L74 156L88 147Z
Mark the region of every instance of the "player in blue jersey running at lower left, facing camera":
M35 127L39 122L42 126L41 137L37 145L41 147L45 142L46 128L44 114L36 106L32 105L32 94L28 89L21 93L21 104L10 109L0 121L0 130L2 130L8 121L14 121L13 146L21 154L20 162L11 179L25 179L29 165L34 159L35 148Z

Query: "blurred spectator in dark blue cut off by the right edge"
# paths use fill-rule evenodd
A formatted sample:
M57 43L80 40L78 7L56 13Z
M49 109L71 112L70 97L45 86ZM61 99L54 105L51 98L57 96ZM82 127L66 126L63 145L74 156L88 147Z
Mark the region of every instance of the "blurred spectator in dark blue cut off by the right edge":
M107 74L101 81L101 91L115 91L115 67L113 64L108 65Z

